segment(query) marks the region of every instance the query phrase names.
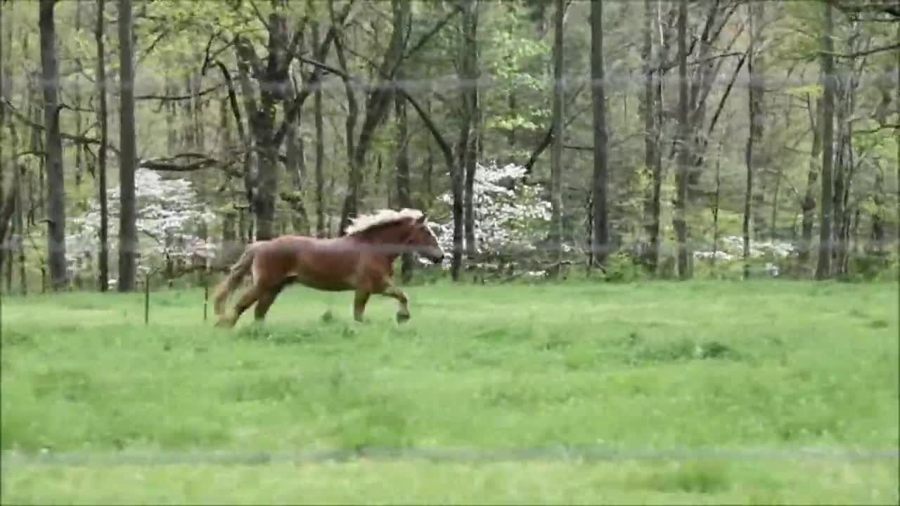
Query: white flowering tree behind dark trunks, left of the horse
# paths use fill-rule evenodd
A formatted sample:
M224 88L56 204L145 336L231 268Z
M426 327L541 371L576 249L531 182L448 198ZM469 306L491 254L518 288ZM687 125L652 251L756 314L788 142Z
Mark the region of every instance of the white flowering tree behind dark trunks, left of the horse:
M197 201L190 181L183 178L163 178L152 170L139 168L135 172L136 211L138 227L138 267L162 267L166 258L185 259L193 256L211 258L214 246L195 234L201 221L211 221L214 214ZM106 192L109 212L109 258L114 268L118 258L119 188ZM84 215L69 221L66 253L69 268L79 271L89 266L100 248L100 204L94 199Z

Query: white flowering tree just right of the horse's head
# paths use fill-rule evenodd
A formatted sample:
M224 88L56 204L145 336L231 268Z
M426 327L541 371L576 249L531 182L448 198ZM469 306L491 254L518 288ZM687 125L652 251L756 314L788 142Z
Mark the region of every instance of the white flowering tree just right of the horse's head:
M482 258L502 258L509 252L536 249L545 239L550 222L550 203L541 198L541 185L523 185L525 167L496 163L479 164L473 183L476 251ZM453 194L437 197L447 207ZM437 223L441 247L453 248L453 220ZM446 260L449 262L449 260ZM446 267L446 266L445 266Z

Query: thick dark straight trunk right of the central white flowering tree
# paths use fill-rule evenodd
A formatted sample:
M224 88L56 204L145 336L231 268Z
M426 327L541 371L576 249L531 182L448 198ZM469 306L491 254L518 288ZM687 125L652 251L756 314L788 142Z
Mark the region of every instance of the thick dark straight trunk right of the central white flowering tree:
M647 0L649 2L649 0ZM646 21L646 20L645 20ZM645 33L649 36L649 32ZM644 50L647 41L644 39ZM646 55L649 58L649 54ZM609 254L609 215L607 207L607 95L603 65L603 4L590 3L590 80L591 105L594 120L594 184L593 184L593 258L600 267L606 266ZM644 83L646 86L646 82ZM646 88L644 89L646 92ZM646 117L644 118L646 120Z

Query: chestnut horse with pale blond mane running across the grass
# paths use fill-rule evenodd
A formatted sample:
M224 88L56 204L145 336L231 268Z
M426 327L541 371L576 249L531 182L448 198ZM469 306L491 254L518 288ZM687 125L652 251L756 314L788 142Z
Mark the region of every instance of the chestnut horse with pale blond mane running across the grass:
M416 209L383 209L357 217L345 232L337 238L283 235L249 243L213 291L214 312L220 317L216 326L234 327L253 303L255 320L265 320L278 294L293 283L328 292L353 290L353 316L360 322L372 294L391 297L399 304L397 322L409 321L410 299L393 285L393 263L408 250L435 264L444 260L428 215ZM225 303L247 274L250 287L233 312L225 314Z

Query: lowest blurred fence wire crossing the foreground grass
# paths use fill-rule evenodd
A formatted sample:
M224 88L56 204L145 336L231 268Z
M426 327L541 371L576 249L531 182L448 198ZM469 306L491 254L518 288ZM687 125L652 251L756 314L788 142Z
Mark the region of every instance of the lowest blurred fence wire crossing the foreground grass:
M7 453L0 457L4 471L16 467L103 465L277 465L322 464L354 460L402 462L428 460L436 463L490 464L502 462L897 462L900 448L883 450L836 450L832 448L674 448L630 449L603 445L576 447L509 447L497 449L452 447L357 447L305 452L110 452L36 455Z

